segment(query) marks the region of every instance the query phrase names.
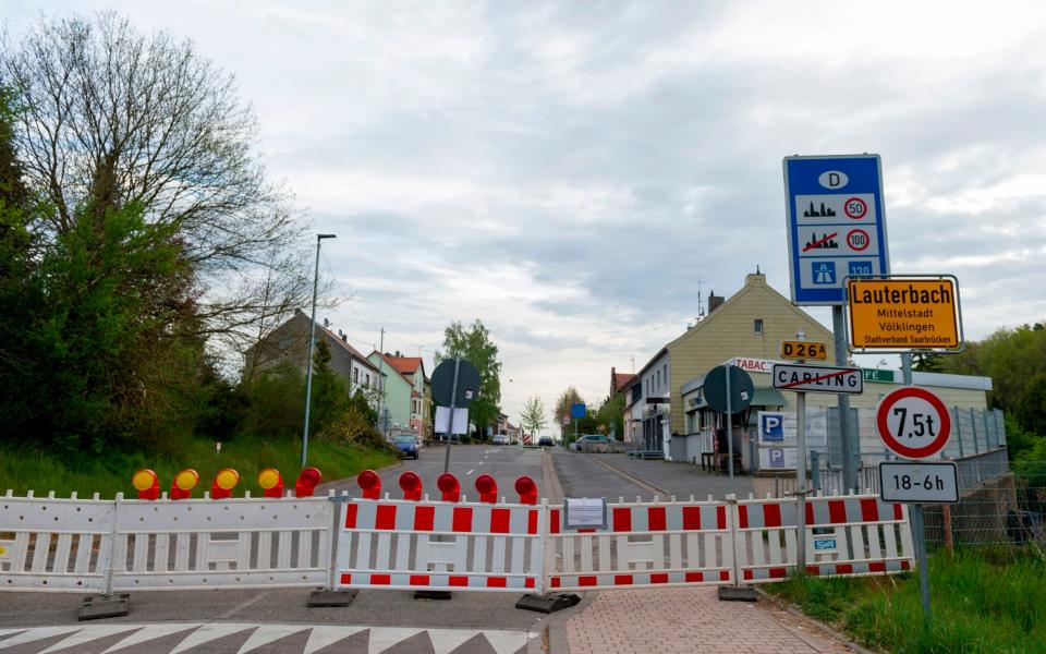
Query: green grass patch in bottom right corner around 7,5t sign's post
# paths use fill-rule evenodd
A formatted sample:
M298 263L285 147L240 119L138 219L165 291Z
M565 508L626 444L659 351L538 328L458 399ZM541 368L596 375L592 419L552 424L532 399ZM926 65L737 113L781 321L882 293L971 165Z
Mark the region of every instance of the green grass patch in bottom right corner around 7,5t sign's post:
M1041 549L940 552L929 566L933 622L919 577L789 579L766 590L881 652L1046 652L1046 558Z

